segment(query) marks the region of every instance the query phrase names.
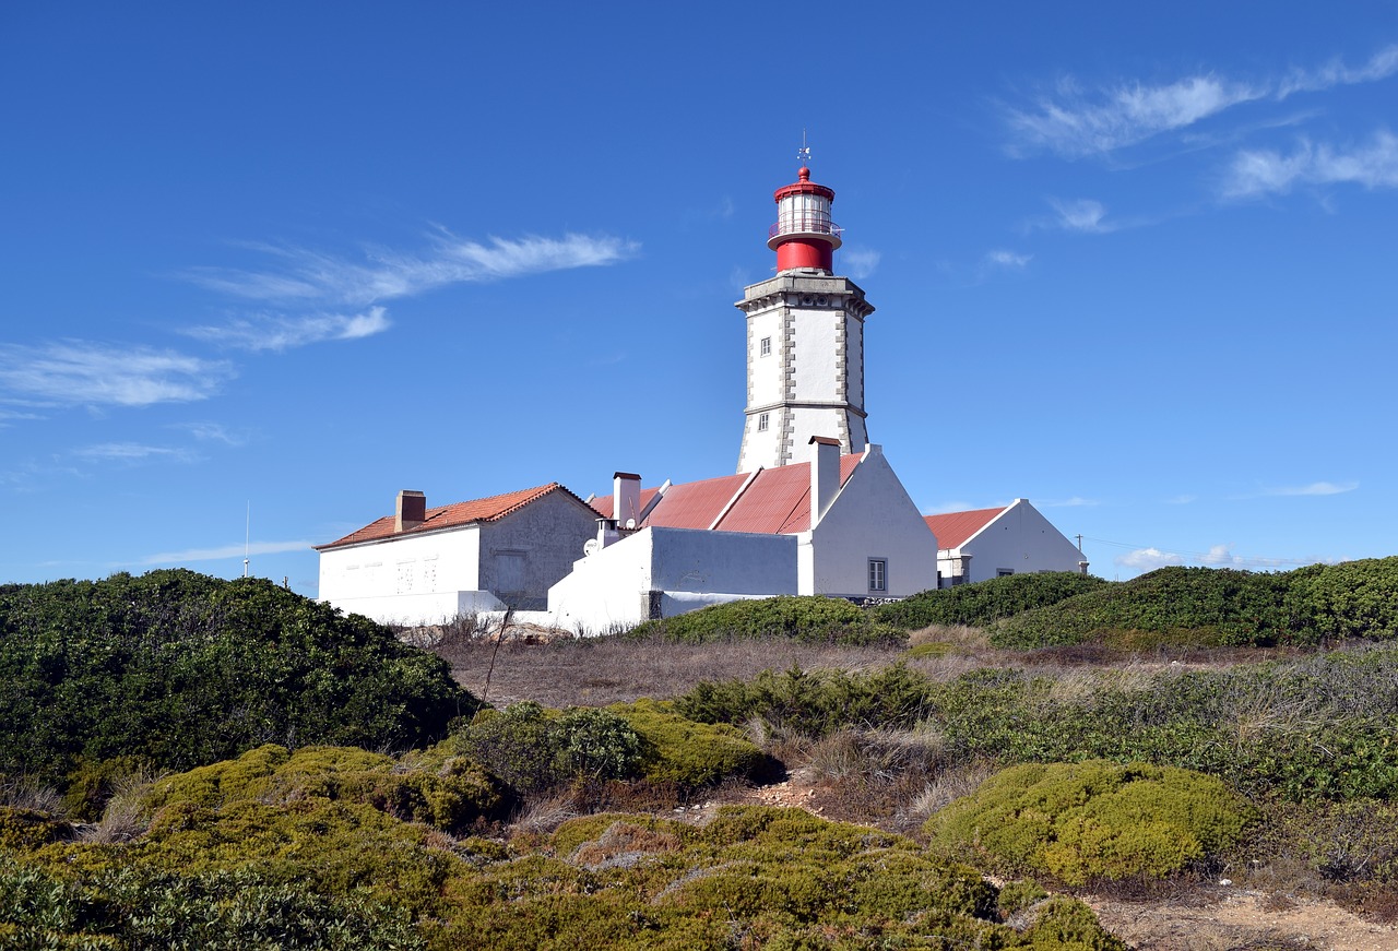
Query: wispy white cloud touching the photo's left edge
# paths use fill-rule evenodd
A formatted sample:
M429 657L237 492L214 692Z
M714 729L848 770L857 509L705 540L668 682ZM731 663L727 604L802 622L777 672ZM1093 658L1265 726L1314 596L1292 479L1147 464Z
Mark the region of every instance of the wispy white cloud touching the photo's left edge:
M0 397L41 406L151 406L206 400L233 375L171 350L70 340L0 344Z

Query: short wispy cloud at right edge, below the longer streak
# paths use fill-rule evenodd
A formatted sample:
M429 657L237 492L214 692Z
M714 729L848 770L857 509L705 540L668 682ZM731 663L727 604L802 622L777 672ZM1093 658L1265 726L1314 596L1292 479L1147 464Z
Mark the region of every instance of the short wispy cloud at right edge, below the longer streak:
M1272 150L1240 151L1233 157L1222 190L1225 197L1251 199L1286 193L1296 185L1336 183L1398 187L1398 136L1380 131L1367 145L1349 151L1307 140L1286 155Z

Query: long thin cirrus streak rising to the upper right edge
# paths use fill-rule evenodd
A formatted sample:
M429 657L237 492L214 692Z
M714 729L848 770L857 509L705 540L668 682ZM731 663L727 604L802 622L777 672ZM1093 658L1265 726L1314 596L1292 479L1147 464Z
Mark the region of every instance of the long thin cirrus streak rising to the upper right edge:
M1335 60L1314 70L1293 70L1275 80L1246 83L1213 73L1173 83L1124 83L1093 91L1072 78L1028 108L1005 113L1014 155L1048 151L1064 158L1104 155L1158 134L1192 126L1233 106L1258 99L1282 101L1297 92L1374 83L1398 73L1398 45L1359 67Z

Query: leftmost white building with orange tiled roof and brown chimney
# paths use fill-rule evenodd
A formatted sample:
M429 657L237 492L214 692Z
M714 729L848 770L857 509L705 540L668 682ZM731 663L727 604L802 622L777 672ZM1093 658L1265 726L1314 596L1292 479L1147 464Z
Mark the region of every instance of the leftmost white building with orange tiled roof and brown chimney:
M320 600L386 624L541 608L597 531L597 513L558 482L429 509L398 492L394 515L320 552Z

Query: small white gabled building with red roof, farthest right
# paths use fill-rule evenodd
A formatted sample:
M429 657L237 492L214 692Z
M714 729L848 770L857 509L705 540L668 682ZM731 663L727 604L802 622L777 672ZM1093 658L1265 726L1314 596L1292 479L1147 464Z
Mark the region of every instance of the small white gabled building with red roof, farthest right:
M1005 508L928 515L937 534L938 587L1040 571L1088 573L1082 552L1029 499Z

